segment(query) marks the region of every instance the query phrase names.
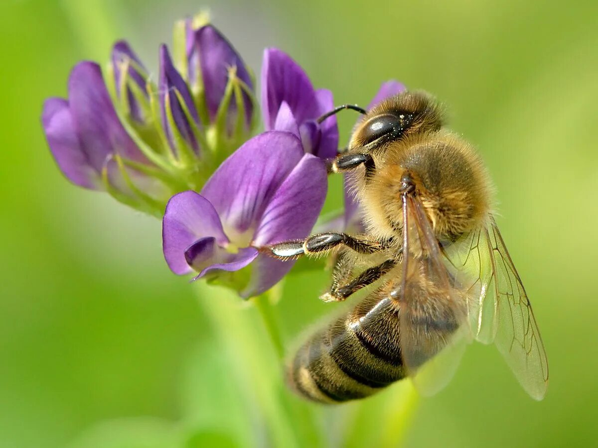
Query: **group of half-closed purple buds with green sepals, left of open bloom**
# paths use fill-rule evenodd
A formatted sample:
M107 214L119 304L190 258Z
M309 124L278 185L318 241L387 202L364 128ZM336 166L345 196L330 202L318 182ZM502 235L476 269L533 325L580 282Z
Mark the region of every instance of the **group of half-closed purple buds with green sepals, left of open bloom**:
M170 196L199 190L253 131L255 99L248 67L215 27L189 20L185 63L165 45L150 76L127 42L114 45L102 76L83 62L68 99L51 98L42 124L66 177L162 216Z

